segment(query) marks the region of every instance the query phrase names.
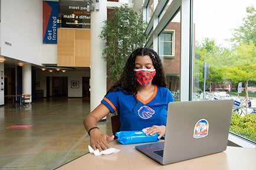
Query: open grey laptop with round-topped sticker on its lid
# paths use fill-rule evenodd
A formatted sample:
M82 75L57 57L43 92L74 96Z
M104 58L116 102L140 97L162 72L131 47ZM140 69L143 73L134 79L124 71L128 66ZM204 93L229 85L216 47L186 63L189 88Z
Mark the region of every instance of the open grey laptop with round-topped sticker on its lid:
M162 165L225 151L233 104L232 99L170 102L165 142L135 148Z

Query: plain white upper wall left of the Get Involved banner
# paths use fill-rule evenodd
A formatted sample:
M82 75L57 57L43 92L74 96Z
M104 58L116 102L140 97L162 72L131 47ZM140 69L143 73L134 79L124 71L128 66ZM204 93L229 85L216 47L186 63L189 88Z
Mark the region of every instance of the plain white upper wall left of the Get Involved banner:
M1 0L1 55L41 65L41 0Z

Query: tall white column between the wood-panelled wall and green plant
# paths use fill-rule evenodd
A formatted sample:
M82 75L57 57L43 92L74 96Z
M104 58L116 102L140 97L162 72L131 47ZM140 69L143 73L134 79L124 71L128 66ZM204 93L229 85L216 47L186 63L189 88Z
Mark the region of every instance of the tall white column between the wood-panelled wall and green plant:
M93 111L107 91L106 62L101 58L104 41L99 38L103 21L107 19L107 0L99 2L99 10L91 11L91 64L90 64L90 109ZM103 121L106 117L103 118Z

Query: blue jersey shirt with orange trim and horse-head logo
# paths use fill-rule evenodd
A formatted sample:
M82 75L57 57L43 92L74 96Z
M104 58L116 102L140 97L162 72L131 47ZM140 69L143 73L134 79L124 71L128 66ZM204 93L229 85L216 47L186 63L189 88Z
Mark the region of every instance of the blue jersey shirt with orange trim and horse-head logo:
M120 131L140 131L153 125L166 125L169 102L173 102L168 88L155 85L153 95L143 101L138 95L127 95L122 91L109 92L101 101L113 114L120 116Z

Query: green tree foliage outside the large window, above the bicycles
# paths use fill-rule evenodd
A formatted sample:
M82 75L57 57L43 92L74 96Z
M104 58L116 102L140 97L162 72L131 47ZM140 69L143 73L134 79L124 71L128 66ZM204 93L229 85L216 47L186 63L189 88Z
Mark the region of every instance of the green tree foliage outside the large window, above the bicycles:
M247 8L244 24L234 29L235 42L231 49L215 44L214 39L205 38L200 45L196 42L194 76L195 84L202 85L202 65L209 62L209 76L206 84L238 85L242 82L247 90L248 81L256 81L256 10ZM198 86L199 88L200 86ZM202 87L201 87L202 88Z

